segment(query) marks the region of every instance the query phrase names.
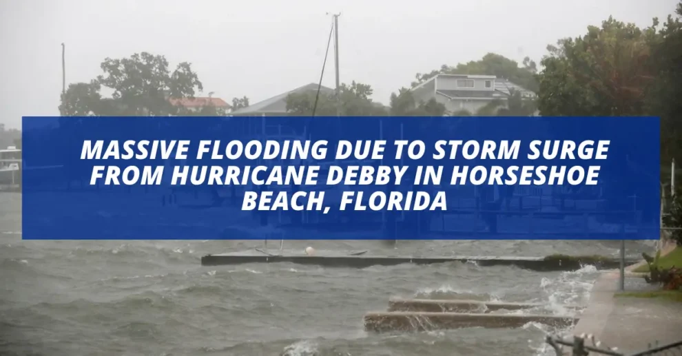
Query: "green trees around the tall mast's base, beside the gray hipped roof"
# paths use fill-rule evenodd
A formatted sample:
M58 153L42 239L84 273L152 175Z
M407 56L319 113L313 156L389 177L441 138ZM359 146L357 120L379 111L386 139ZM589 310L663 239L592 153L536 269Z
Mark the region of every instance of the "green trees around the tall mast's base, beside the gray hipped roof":
M384 116L386 109L380 103L372 101L372 87L356 83L340 85L341 116ZM320 92L317 107L315 100L317 91L293 93L287 96L287 112L291 116L311 116L313 108L315 116L336 116L336 96L329 92Z

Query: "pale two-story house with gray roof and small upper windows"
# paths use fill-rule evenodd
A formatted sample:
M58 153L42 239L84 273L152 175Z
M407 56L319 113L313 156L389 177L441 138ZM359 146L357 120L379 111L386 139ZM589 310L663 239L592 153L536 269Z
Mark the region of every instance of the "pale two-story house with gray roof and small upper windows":
M475 114L496 99L506 102L515 91L520 92L524 98L536 96L534 92L504 78L471 74L438 74L413 87L411 91L417 101L434 98L445 105L448 114L462 110Z

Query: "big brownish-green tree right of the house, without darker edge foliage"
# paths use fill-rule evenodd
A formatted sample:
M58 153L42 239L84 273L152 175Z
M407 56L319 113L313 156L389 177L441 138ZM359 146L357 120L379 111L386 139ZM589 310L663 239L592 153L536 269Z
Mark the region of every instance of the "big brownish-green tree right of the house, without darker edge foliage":
M655 24L654 24L655 25ZM654 26L641 30L609 18L601 28L548 46L541 64L538 106L544 116L644 114L652 82L648 59Z

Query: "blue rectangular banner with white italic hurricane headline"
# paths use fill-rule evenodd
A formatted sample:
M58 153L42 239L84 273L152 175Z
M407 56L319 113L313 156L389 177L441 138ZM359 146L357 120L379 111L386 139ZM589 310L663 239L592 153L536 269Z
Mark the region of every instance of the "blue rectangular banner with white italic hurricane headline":
M659 238L652 117L24 117L23 239Z

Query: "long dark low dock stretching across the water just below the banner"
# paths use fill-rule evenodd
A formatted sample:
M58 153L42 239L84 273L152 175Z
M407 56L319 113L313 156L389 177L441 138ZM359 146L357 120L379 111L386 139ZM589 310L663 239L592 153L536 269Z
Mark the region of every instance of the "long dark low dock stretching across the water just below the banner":
M617 258L597 256L548 256L548 257L515 257L515 256L380 256L369 255L366 251L316 251L307 255L304 251L263 251L253 249L233 253L205 255L201 258L203 266L220 266L249 263L312 264L318 266L366 268L369 266L395 266L397 264L440 264L448 262L475 262L479 266L517 266L533 271L575 271L585 265L594 265L599 269L614 269L620 264ZM630 261L626 261L626 264ZM634 263L634 262L633 262Z

